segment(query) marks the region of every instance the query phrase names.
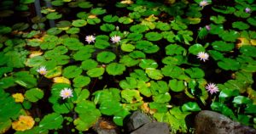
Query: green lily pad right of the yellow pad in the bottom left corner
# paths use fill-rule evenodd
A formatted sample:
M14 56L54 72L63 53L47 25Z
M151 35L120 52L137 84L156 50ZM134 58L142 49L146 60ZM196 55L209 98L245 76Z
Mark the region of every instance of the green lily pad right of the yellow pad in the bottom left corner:
M57 113L47 114L40 121L39 127L47 130L58 129L62 126L63 121L64 119L61 114L57 114Z

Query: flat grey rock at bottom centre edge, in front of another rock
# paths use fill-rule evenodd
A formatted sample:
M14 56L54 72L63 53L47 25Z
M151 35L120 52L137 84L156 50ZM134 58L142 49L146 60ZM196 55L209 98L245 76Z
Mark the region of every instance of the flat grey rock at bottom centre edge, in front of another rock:
M170 131L166 123L150 122L132 131L131 134L170 134Z

